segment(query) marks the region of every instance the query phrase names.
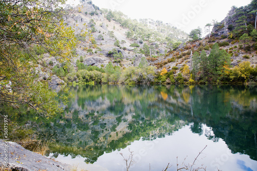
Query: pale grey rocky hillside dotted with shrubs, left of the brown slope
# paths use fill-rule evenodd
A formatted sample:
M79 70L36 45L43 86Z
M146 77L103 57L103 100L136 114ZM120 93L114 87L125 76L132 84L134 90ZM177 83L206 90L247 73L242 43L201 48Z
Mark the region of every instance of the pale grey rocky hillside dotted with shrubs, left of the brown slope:
M137 66L142 56L164 56L189 40L187 33L171 24L151 19L138 22L121 12L99 9L90 1L70 10L70 15L64 18L67 26L74 28L77 34L87 29L95 39L89 47L88 41L81 40L77 55L72 59L75 68L80 56L87 66L105 67L109 61L123 67ZM122 58L115 58L116 54L121 54ZM47 54L44 57L46 64L50 62L52 67L58 64L54 57L49 58Z

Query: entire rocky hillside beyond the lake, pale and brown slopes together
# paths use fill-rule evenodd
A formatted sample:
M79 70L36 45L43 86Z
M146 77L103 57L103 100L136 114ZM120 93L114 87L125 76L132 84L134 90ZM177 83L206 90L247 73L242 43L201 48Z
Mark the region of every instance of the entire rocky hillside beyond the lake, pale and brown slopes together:
M69 83L74 81L76 83L89 81L96 83L94 80L95 73L91 76L91 79L82 81L82 79L78 79L78 77L82 78L81 73L76 74L76 72L86 69L88 66L94 66L97 68L91 70L98 70L103 73L109 62L114 67L120 67L119 73L117 72L118 74L115 76L116 79L112 79L115 80L114 83L125 83L124 79L120 81L120 73L125 73L123 72L125 68L137 67L144 57L147 60L147 65L156 67L154 69L155 73L143 74L150 76L151 81L148 82L159 83L161 80L162 83L170 83L170 80L173 80L173 78L170 78L173 77L170 76L172 73L175 80L171 82L178 83L179 81L176 77L178 73L181 73L183 81L180 80L183 83L190 79L193 70L193 54L195 52L201 54L204 50L208 57L211 54L213 45L217 44L221 53L225 51L224 55L229 55L230 61L226 58L225 63L214 70L211 69L210 65L208 66L209 71L204 73L199 66L202 63L201 60L197 60L198 62L193 74L195 78L192 79L196 82L205 80L203 83L212 83L213 75L219 80L222 75L226 74L226 78L223 78L222 81L226 80L226 83L229 83L235 81L235 79L231 80L231 78L239 78L237 81L242 82L240 77L242 75L244 77L244 74L232 73L233 68L243 62L249 62L252 67L255 67L257 63L257 54L255 52L257 50L257 44L255 43L257 32L253 27L255 20L251 9L253 9L252 4L247 7L232 7L222 22L214 23L211 35L208 35L205 39L198 37L192 41L185 32L172 27L171 24L164 24L161 21L151 19L131 20L122 12L99 9L99 7L88 1L71 9L69 16L64 18L66 25L76 31L77 38L80 40L80 44L74 50L75 55L71 59L71 66L66 69L67 72L65 74L58 74L54 70L62 67L64 72L64 64L58 63L55 57L49 58L47 54L43 56L46 64L49 65L50 69L52 68L52 72L56 73L63 80L66 79L65 82ZM80 35L83 29L86 29L91 34L90 39L85 39L85 37ZM215 45L215 47L217 46ZM209 62L207 63L209 65ZM227 69L226 71L224 67ZM38 70L41 73L41 79L47 80L48 74L51 74L50 70L42 71L40 68ZM167 73L166 70L172 72L167 73L165 77L159 77L158 74L161 73L161 70L165 73ZM223 71L219 72L218 70ZM64 78L67 74L69 75ZM109 75L108 73L106 76L107 81L105 82L109 82ZM103 74L99 77L101 79L98 83L103 83ZM255 78L254 75L253 77ZM165 81L166 79L168 81ZM248 80L248 78L245 79ZM132 81L133 83L142 83L140 78L134 80L136 81ZM54 84L54 82L61 81L54 80L50 83Z

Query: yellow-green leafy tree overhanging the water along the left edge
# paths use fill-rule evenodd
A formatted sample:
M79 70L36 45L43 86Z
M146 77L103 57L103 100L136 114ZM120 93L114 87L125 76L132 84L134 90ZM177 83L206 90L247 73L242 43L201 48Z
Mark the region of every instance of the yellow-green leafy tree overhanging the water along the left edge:
M60 6L64 2L0 1L0 108L22 104L44 117L62 111L58 94L36 81L38 74L33 68L46 66L33 49L48 52L61 63L74 55L78 40L63 22L65 11ZM81 32L80 36L89 34ZM68 97L62 100L66 102Z

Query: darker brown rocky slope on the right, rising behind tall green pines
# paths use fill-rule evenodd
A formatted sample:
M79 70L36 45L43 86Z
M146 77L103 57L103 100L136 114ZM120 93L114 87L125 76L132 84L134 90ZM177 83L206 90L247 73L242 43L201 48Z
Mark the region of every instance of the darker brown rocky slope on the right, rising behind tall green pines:
M233 6L223 21L214 23L211 35L207 35L204 39L180 44L177 49L168 52L164 57L151 58L149 59L151 65L156 66L159 71L167 68L168 71L173 70L175 75L182 73L183 77L189 79L189 73L193 69L192 56L194 52L200 54L205 50L209 56L213 45L217 43L219 49L225 50L230 55L229 70L233 70L244 62L249 62L254 68L257 64L256 14L253 10L256 9L257 3L254 3L255 1L240 8ZM185 66L186 69L184 69Z

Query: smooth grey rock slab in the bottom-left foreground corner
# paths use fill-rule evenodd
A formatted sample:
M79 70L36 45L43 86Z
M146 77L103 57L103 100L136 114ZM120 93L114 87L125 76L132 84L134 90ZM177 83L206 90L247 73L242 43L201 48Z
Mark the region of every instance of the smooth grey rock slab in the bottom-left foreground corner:
M67 164L48 159L40 154L33 153L14 142L5 142L0 139L0 165L11 170L70 170Z

